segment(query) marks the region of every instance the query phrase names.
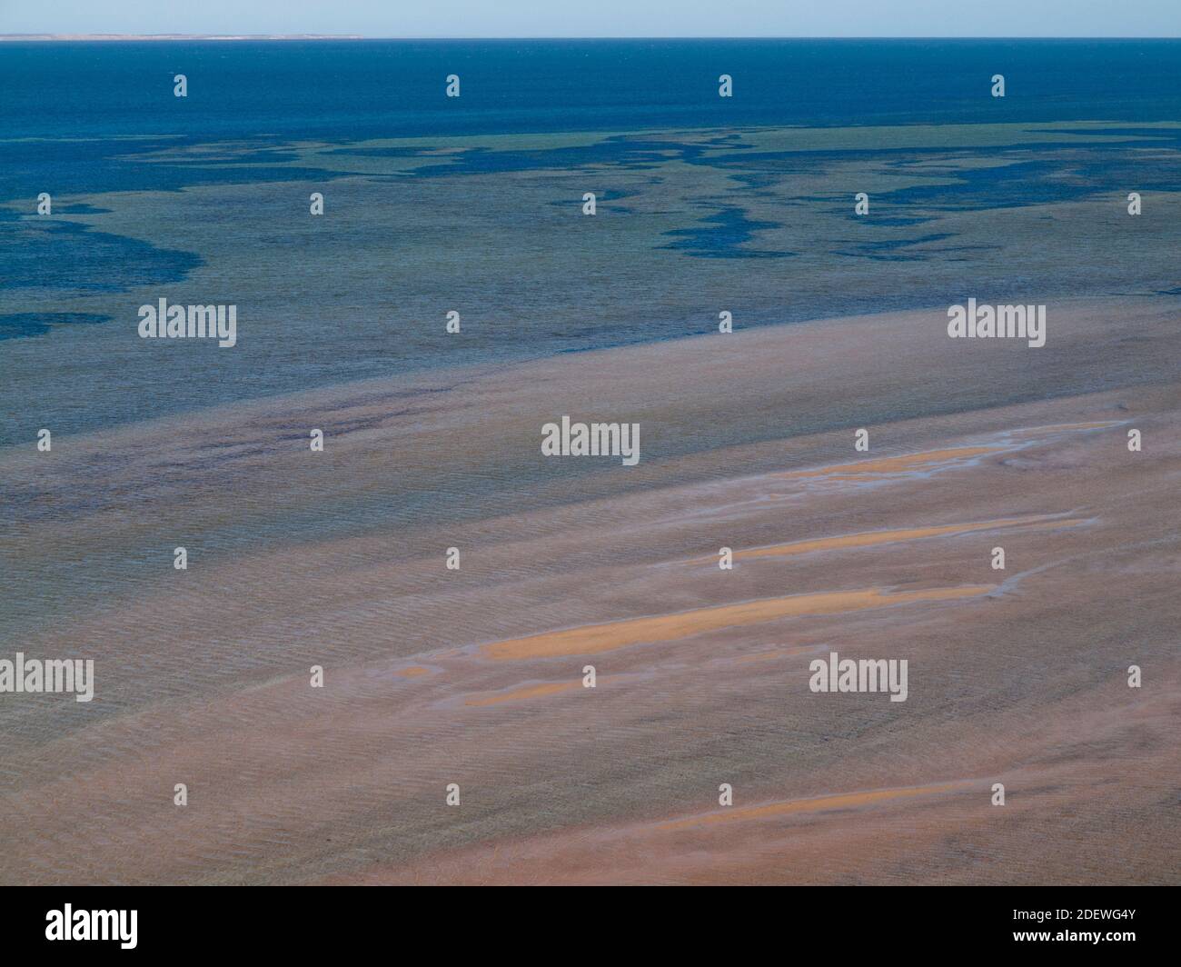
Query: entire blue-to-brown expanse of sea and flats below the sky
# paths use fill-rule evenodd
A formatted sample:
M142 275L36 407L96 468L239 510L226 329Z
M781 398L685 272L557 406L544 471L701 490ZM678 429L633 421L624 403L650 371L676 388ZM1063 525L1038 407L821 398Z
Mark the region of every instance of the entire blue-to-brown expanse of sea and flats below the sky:
M1181 41L0 46L0 882L1177 882Z

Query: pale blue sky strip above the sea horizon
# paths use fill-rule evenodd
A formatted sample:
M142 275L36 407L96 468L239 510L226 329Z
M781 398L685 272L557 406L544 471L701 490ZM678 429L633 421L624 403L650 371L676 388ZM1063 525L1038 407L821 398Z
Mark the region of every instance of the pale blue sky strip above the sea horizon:
M0 33L1181 37L1181 0L0 0Z

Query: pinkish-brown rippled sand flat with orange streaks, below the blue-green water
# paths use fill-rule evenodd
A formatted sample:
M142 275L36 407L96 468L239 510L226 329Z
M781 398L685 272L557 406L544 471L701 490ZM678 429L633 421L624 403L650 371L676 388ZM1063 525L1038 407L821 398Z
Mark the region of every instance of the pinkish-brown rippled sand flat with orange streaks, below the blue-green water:
M2 452L4 655L97 682L0 700L0 880L1177 882L1181 312L1055 304L1042 350L944 326ZM542 457L562 414L639 421L640 465ZM908 700L813 694L830 650L906 658Z

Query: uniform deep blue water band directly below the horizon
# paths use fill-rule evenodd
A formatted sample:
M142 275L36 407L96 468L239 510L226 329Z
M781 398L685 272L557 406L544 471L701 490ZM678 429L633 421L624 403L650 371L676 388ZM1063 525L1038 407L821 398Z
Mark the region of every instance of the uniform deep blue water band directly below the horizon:
M189 78L183 99L171 96L177 73ZM450 73L462 78L458 99L443 96ZM730 99L717 96L722 73L735 79ZM1005 98L987 96L994 73ZM1083 118L1181 119L1181 41L14 41L0 44L0 201L22 196L34 171L71 192L194 177L162 167L145 184L144 171L120 170L113 158L126 145L112 139L129 135L351 141ZM86 141L51 151L18 138Z

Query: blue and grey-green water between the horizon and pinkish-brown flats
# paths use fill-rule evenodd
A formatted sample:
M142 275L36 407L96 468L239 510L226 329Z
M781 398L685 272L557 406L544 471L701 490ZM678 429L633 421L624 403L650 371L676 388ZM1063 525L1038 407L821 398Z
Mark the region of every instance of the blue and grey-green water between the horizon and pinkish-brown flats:
M187 98L172 96L176 73L188 78ZM451 73L462 78L458 99L444 96ZM718 97L722 73L733 77L732 98ZM990 96L996 73L1005 76L1004 98ZM985 147L952 137L899 148L869 138L855 148L772 150L744 141L744 132L784 126L1013 123L1033 125L1040 137L1037 125L1096 121L1114 126L1103 137L1078 126L1077 145L1063 144L1061 128L1046 128L1044 143ZM994 222L987 232L970 221L934 222L941 212L1097 197L1118 210L1133 188L1173 193L1181 184L1181 134L1146 125L1177 121L1177 40L2 43L0 355L21 378L11 391L0 387L8 416L0 443L27 440L31 427L51 417L77 430L139 418L137 401L155 381L169 392L154 411L183 411L416 368L674 338L700 332L703 319L716 317L715 303L737 309L742 325L762 325L957 300L965 279L1014 298L1175 292L1175 275L1156 257L1176 244L1176 220L1163 219L1155 203L1136 234L1109 247L1122 258L1111 266L1087 264L1090 251L1071 252L1096 226L1048 229L1049 254L1037 267ZM461 142L446 164L430 157L432 138L579 131L619 134L548 147ZM660 136L628 134L644 131ZM358 144L405 137L424 141ZM328 145L320 162L299 147L313 141ZM200 148L200 158L154 157L189 148ZM488 270L481 281L450 251L458 241L419 242L432 236L420 220L380 236L374 225L340 220L337 193L337 220L313 225L302 199L309 184L342 177L326 167L333 160L410 166L372 175L365 196L351 196L354 205L407 203L398 195L407 181L465 196L469 176L495 179L501 197L488 196L479 181L483 214L474 199L470 221L454 209L445 216L461 219L450 226L459 240L477 236L488 212L496 213L503 245L462 257ZM711 186L724 175L725 190L700 194L686 177L694 168L709 169ZM600 205L615 221L598 221L601 236L572 222L578 254L544 270L542 257L553 253L530 253L536 215L517 205L515 179L549 179L553 199L533 203L561 209L582 190L561 180L570 171L601 182ZM889 175L898 181L882 177ZM857 221L850 195L862 180L877 186L875 208ZM207 226L152 223L139 195L118 194L288 182L301 183L291 189L299 205L282 207L287 200L273 188L252 202L231 195L205 209ZM32 214L43 190L54 196L53 219ZM57 218L103 214L78 200L89 194L102 194L106 212L146 220L141 234L156 241ZM667 203L679 220L653 231L639 251L624 219L651 216L654 203ZM797 219L803 209L824 221ZM254 247L243 245L237 261L221 253L210 262L197 244L257 223L267 228L263 239L243 233ZM1027 238L1029 222L1017 231ZM412 264L423 245L438 248L436 268L386 285L398 260ZM631 254L596 261L619 246ZM331 280L354 255L367 254L372 265L374 249L386 247L390 272L335 293ZM280 249L291 253L280 268L307 270L282 272L262 258ZM508 259L514 251L516 262ZM583 275L587 260L598 267ZM750 274L736 277L738 266ZM768 273L781 273L782 296ZM196 301L236 301L241 293L253 300L243 307L240 349L205 359L167 356L135 339L138 298L183 300L190 292ZM423 335L417 322L439 317L454 299L478 310L465 316L459 346ZM325 318L335 329L325 331ZM402 326L397 343L391 324ZM60 370L46 368L51 356ZM190 378L197 365L205 368L202 379ZM30 385L40 400L26 411Z

